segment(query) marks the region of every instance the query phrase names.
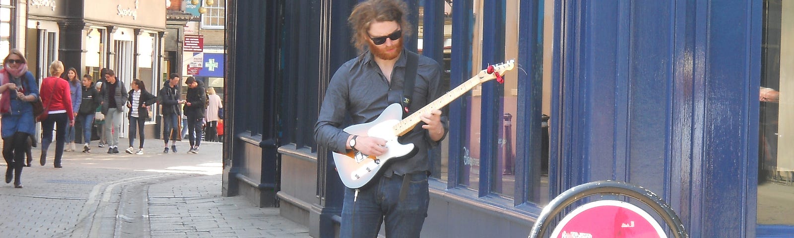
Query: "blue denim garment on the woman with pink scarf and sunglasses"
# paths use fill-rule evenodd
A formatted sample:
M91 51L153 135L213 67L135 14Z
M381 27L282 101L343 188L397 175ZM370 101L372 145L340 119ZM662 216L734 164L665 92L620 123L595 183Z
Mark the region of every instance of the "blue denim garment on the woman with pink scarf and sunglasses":
M22 83L25 80L25 83ZM25 76L14 79L11 77L11 82L17 85L17 88L24 89L25 95L33 95L39 98L39 87L36 84L36 79L33 74L26 72ZM36 121L33 119L33 105L30 102L23 102L17 98L17 95L11 95L11 110L9 113L4 113L0 119L0 133L2 138L13 136L14 132L25 132L33 134L36 131Z

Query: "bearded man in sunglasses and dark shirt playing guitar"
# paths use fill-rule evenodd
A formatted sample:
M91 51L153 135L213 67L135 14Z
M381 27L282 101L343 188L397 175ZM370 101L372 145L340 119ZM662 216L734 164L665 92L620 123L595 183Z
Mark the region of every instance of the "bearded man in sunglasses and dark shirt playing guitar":
M343 124L346 116L352 124L373 121L387 106L403 100L403 82L410 76L407 55L415 55L403 48L411 29L406 17L406 4L399 0L368 0L353 9L348 18L352 41L362 53L339 67L331 79L314 127L318 144L364 158L389 152L384 138L345 132ZM446 90L441 88L441 67L426 56L418 56L414 77L410 112ZM384 221L387 237L419 237L430 202L428 149L447 132L446 117L439 109L422 113L420 119L421 127L399 136L400 143L414 144L414 155L387 163L366 186L345 189L340 237L376 237Z

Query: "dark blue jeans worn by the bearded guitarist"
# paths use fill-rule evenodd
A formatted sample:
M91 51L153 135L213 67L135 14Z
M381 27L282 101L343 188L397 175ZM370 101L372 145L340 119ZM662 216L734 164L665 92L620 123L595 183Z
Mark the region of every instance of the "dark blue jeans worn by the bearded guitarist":
M356 190L345 189L339 237L377 237L384 221L386 237L419 237L430 203L427 174L406 176L409 181L403 201L400 201L403 186L400 175L375 178L378 181L360 189L356 202L353 202Z

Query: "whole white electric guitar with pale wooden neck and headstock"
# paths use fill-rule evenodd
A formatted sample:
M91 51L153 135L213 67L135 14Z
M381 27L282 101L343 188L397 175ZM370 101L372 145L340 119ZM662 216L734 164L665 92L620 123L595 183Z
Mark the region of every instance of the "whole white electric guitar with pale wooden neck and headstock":
M468 90L472 90L475 86L491 79L497 79L499 83L503 83L502 75L505 71L512 70L514 66L515 60L512 59L506 63L488 66L487 69L480 71L472 79L468 79L460 86L441 95L441 97L428 103L422 109L411 113L405 119L403 119L402 106L399 103L394 103L387 106L375 121L351 125L343 129L343 131L351 135L375 136L386 140L387 152L380 156L364 155L355 150L350 150L346 154L333 152L333 162L336 163L337 172L342 183L352 189L366 186L372 181L372 178L381 175L383 173L381 169L389 163L415 155L416 148L414 148L414 144L400 144L397 141L397 137L403 136L411 129L414 129L414 126L419 122L422 122L420 116L423 113L441 109L449 102L461 97Z

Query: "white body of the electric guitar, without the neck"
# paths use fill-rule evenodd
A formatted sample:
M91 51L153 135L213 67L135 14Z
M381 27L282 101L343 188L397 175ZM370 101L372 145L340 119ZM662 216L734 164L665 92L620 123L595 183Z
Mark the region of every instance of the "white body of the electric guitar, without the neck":
M398 136L392 129L403 119L403 111L399 103L391 104L383 113L380 113L375 121L364 124L351 125L344 129L352 135L373 136L386 140L388 150L383 155L374 157L355 152L350 154L340 154L333 152L333 163L336 163L339 178L345 186L357 189L367 185L380 171L384 165L393 159L402 159L403 156L414 153L414 144L400 144Z

